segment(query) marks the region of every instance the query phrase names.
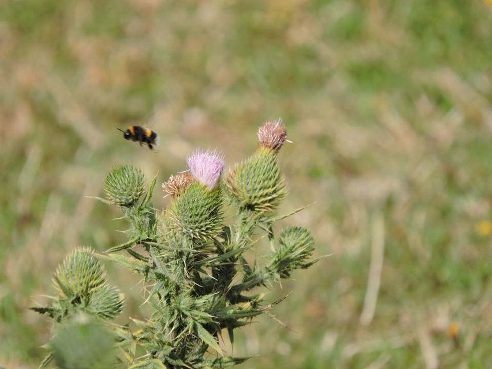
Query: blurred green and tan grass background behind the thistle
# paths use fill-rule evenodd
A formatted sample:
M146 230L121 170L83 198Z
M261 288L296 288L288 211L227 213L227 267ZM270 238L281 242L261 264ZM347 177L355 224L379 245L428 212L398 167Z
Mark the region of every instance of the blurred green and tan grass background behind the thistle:
M0 365L43 357L50 326L27 307L64 256L122 240L118 210L86 197L115 163L162 182L216 146L232 165L282 116L281 212L316 201L285 224L333 255L269 295L294 291L275 309L290 330L243 330L241 367L489 367L491 66L488 0L0 1ZM130 124L157 153L115 130ZM125 322L140 285L107 267Z

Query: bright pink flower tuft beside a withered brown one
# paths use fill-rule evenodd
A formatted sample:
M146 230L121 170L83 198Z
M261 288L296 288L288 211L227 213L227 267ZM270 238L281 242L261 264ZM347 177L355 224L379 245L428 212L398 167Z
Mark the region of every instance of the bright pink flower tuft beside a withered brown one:
M224 156L217 150L202 151L196 149L186 159L190 172L195 179L209 190L217 186L222 170L224 169Z

